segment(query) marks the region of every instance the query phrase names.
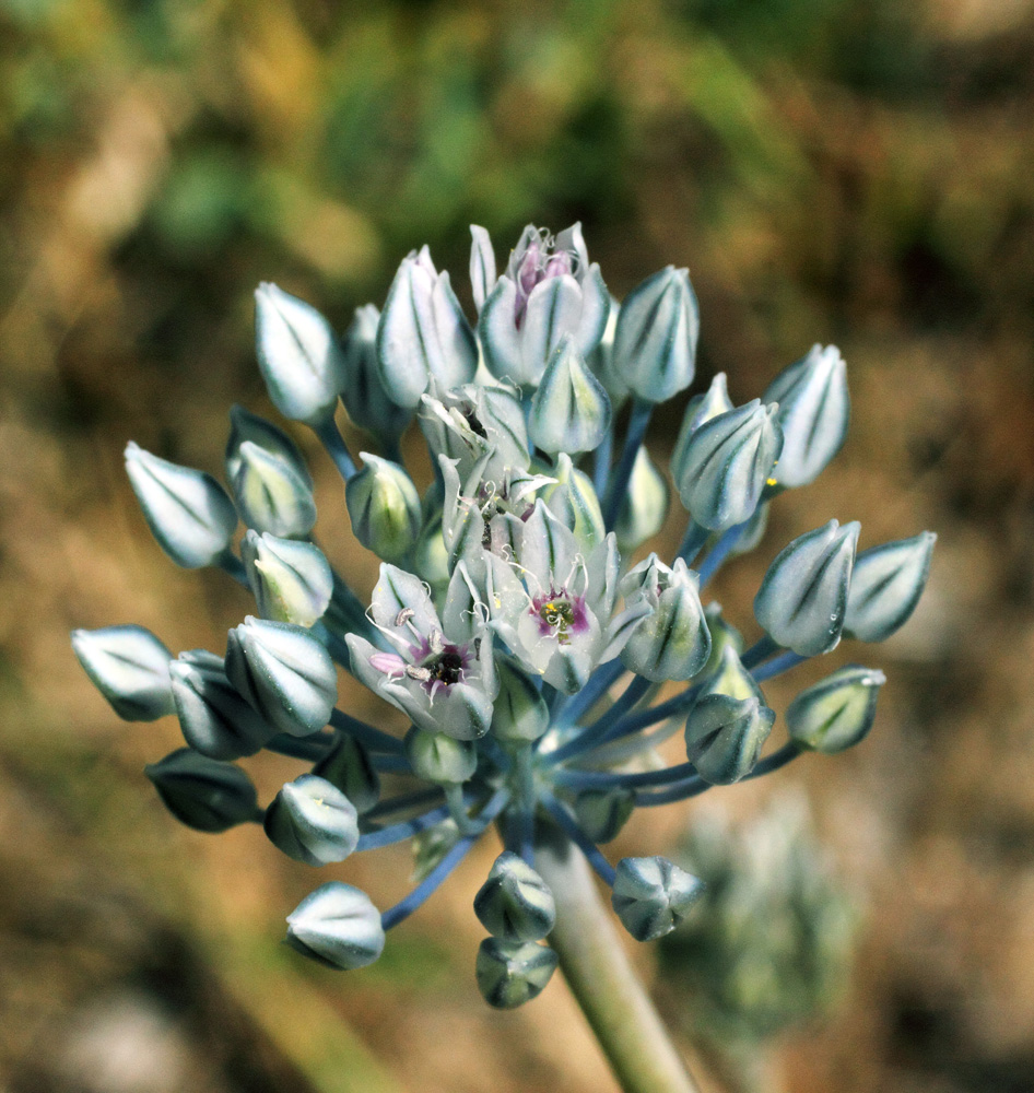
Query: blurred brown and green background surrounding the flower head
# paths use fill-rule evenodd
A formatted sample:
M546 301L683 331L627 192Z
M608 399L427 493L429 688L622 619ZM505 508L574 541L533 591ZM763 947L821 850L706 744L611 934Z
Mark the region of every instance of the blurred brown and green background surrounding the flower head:
M68 644L137 622L220 650L248 609L165 560L121 453L220 473L230 404L273 416L259 280L343 328L414 246L469 302L469 223L502 256L574 220L619 296L690 267L696 389L726 371L745 401L814 341L848 361L844 451L716 581L749 637L792 536L836 516L862 548L940 537L903 632L769 690L782 712L834 662L882 667L862 745L622 833L620 854L675 853L691 823L731 825L745 860L765 824L810 828L808 883L848 908L787 1020L744 1033L761 988L708 1001L679 973L692 943L663 951L666 1011L715 1091L1034 1089L1032 48L1032 0L0 0L0 1089L615 1089L559 977L515 1013L481 1002L491 846L373 967L308 965L279 939L315 874L255 827L177 826L141 773L175 720L119 721ZM292 432L365 596L375 560ZM295 765L250 768L271 795ZM384 906L409 869L403 847L339 872ZM776 919L748 919L763 968Z

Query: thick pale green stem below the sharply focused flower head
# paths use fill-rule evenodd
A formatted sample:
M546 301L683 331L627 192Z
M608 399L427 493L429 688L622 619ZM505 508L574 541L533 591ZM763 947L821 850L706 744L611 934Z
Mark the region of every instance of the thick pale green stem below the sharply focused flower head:
M632 967L581 855L560 837L536 847L556 900L550 944L624 1093L700 1093Z

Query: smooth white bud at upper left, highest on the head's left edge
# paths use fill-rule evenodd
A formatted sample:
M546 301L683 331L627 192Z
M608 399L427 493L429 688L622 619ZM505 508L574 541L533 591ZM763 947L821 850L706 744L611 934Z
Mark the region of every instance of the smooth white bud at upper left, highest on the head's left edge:
M345 384L344 360L322 315L262 283L255 291L255 336L269 397L284 418L318 425L333 416Z

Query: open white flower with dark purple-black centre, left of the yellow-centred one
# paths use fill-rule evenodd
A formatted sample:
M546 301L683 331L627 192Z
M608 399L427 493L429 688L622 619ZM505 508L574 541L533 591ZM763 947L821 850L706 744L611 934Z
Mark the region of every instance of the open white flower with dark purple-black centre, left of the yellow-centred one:
M352 671L418 728L475 740L489 731L498 691L483 611L462 564L449 583L443 623L420 578L385 563L371 618L397 651L349 634Z

